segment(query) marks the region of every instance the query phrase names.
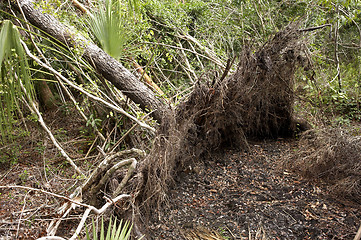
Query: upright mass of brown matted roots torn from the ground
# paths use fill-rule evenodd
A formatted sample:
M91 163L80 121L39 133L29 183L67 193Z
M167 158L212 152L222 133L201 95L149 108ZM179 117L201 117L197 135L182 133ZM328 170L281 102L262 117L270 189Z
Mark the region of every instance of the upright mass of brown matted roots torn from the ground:
M191 95L162 122L143 162L138 199L159 206L177 173L223 146L247 148L247 138L291 135L293 84L304 62L304 41L291 24L255 53L245 48L234 74L197 83ZM225 75L224 75L225 76Z

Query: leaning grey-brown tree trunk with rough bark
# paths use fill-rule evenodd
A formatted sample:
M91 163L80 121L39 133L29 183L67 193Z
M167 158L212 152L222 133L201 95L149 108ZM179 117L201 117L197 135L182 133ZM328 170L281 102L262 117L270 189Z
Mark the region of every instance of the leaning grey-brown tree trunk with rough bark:
M83 50L83 57L98 73L132 101L139 104L143 110L154 111L152 117L159 122L162 121L164 114L170 110L169 106L158 99L152 90L140 82L120 62L109 56L90 40L80 34L73 33L53 16L43 13L41 8L35 9L31 0L18 0L18 2L31 24L64 45Z

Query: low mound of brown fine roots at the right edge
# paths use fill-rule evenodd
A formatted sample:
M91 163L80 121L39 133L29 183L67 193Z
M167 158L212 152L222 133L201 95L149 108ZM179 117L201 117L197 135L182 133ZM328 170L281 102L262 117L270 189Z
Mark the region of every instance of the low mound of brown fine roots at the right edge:
M330 192L361 201L361 137L341 129L305 132L285 165L304 177L321 180Z

